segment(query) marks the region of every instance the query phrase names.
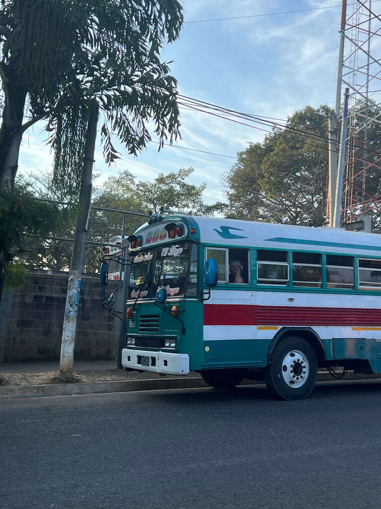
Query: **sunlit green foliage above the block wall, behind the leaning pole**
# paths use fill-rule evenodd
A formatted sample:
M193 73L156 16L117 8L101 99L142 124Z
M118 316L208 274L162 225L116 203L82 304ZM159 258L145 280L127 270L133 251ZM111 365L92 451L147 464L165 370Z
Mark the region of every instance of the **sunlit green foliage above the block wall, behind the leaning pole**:
M205 206L202 192L205 184L195 186L186 182L192 168L180 168L178 172L163 174L153 181L137 181L129 171L110 177L102 187L94 189L92 205L141 213L142 216L126 214L125 235L134 232L144 221L149 210L158 212L160 207L184 212L203 213ZM60 202L71 202L73 196L56 189L50 174L34 173L23 179L23 185L34 194ZM59 221L54 222L55 237L74 238L75 206L57 205L55 213ZM88 240L107 243L122 233L123 215L118 212L92 210ZM72 243L55 239L28 237L28 249L22 250L23 263L30 268L49 268L53 271L68 270L72 254ZM84 253L85 272L96 272L103 256L102 247L86 245Z

